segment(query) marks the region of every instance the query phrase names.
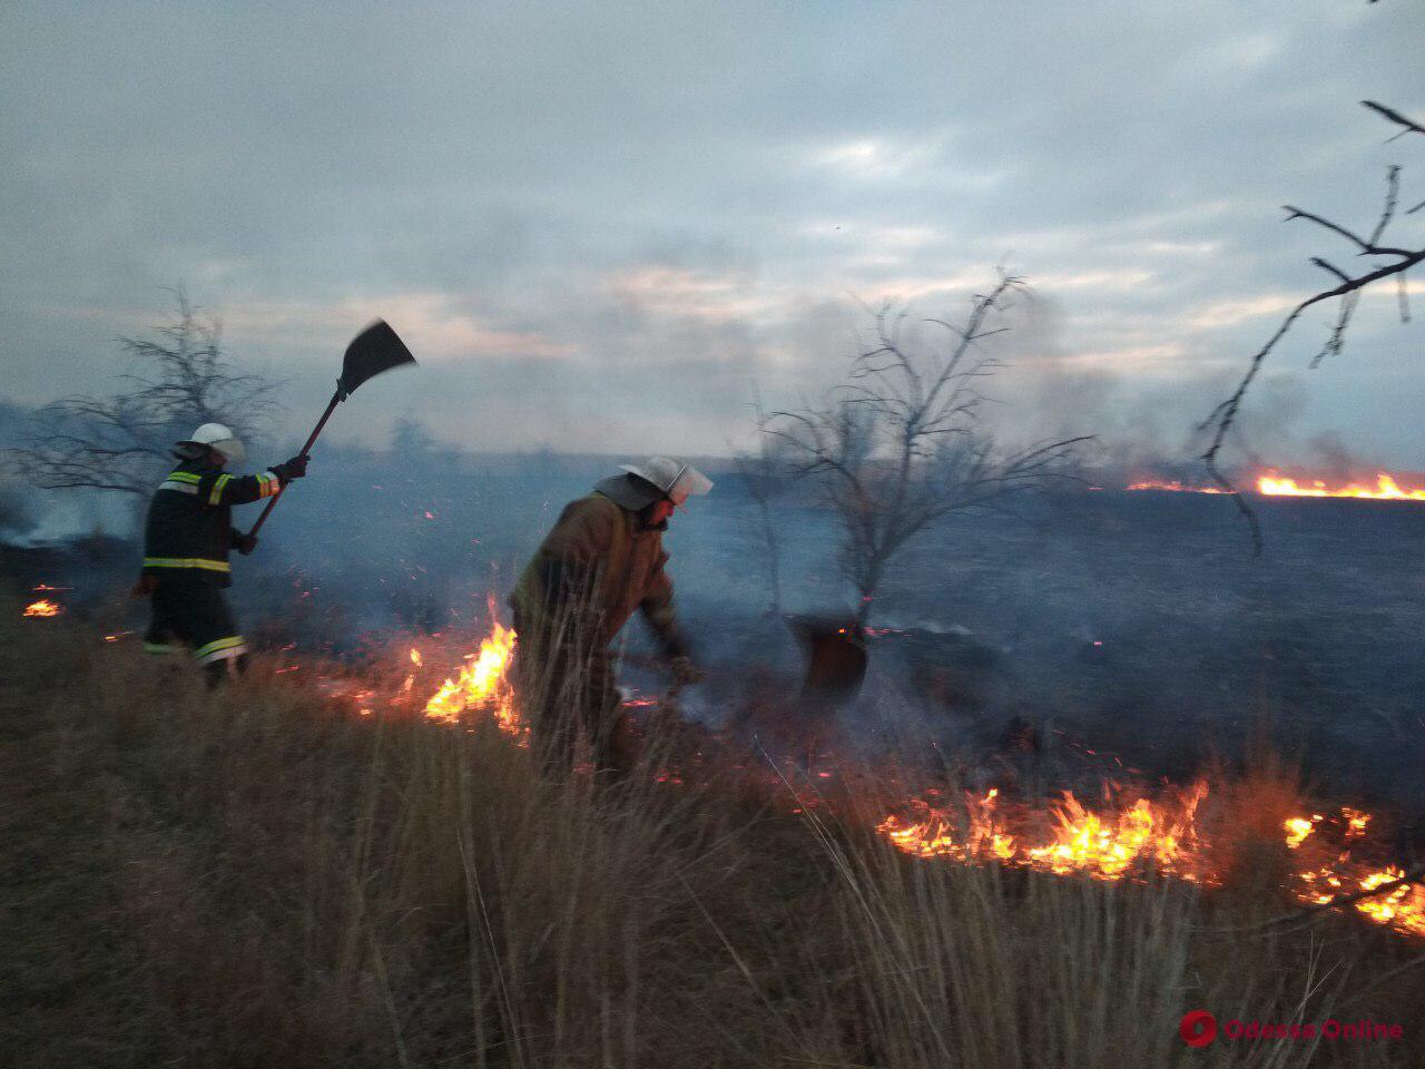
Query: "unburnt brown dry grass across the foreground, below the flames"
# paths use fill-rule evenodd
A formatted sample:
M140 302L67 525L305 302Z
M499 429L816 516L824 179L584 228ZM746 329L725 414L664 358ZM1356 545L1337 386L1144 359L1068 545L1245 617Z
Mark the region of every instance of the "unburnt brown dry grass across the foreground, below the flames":
M1422 1021L1415 974L1367 989L1419 948L1352 918L1206 931L1287 905L1250 828L1214 895L918 862L728 773L596 790L494 730L352 718L261 664L208 696L11 609L16 1065L1421 1063L1409 1040L1178 1039L1198 1006Z

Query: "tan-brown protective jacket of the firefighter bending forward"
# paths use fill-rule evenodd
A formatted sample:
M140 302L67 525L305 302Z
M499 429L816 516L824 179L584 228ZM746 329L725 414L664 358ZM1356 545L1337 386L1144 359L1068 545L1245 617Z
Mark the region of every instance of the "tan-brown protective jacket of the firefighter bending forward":
M526 630L571 629L580 646L594 650L607 647L638 609L667 651L683 654L667 563L663 532L596 490L564 506L514 584L510 606Z

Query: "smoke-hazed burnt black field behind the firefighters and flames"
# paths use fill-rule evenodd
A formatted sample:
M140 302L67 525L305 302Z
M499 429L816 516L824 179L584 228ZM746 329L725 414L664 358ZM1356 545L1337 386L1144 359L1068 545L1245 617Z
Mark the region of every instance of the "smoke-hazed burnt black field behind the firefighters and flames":
M238 562L235 603L268 641L338 653L395 627L479 630L486 593L503 597L560 506L607 469L319 456L258 553ZM714 668L687 700L705 716L755 674L788 693L798 676L771 613L755 505L735 475L712 475L714 493L667 539L684 617ZM779 609L849 606L829 519L805 495L772 507ZM885 633L871 640L845 738L988 753L1019 717L1057 758L1183 780L1214 755L1240 760L1257 731L1298 757L1325 798L1425 814L1425 505L1257 507L1261 557L1220 496L1076 492L1022 502L1016 517L952 519L905 552L878 599L872 624ZM77 607L130 579L121 563L74 560L4 563L73 582Z

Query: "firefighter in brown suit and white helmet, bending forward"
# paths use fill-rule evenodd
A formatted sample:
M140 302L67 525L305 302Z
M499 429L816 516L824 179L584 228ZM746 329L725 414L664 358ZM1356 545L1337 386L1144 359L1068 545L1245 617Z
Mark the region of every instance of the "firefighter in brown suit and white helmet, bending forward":
M685 463L656 456L570 502L510 594L514 677L536 737L557 761L573 758L581 728L600 771L633 761L618 713L610 643L637 609L680 681L697 677L673 609L663 532L675 509L712 483Z

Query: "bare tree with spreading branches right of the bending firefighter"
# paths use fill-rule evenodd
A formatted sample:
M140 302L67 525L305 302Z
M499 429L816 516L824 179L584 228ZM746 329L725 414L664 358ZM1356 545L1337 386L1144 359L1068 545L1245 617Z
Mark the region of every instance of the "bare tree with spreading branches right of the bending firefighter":
M1003 326L992 321L1025 289L1000 274L970 298L960 324L925 319L949 335L945 352L903 342L909 311L884 305L875 339L854 358L846 382L822 408L774 415L768 433L785 443L792 469L815 477L841 525L842 572L869 620L895 556L916 536L959 512L1005 509L1010 497L1069 477L1089 438L1040 440L1003 449L983 420L980 382L999 362L980 342Z

